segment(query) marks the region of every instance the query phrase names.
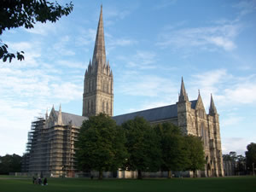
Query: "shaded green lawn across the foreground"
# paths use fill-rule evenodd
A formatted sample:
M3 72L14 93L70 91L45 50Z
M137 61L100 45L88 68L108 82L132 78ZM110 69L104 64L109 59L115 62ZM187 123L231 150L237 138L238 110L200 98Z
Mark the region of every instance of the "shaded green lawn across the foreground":
M250 192L256 191L256 177L96 179L49 178L48 186L32 184L32 178L0 177L0 192Z

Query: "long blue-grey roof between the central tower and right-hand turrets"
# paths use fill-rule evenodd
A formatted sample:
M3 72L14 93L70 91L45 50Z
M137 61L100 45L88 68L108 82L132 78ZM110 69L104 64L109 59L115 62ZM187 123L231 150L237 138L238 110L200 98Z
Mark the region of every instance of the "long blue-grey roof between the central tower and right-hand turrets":
M191 101L191 108L195 108L196 102L197 100ZM134 113L121 114L114 116L113 119L116 121L117 125L121 125L126 120L134 119L137 116L143 117L149 122L177 118L177 104L167 105L160 108L151 108Z

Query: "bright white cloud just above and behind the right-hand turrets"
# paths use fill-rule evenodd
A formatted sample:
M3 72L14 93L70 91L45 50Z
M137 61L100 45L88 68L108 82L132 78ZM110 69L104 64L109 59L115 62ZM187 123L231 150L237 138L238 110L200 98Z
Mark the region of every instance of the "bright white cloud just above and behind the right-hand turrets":
M189 84L192 94L200 89L201 96L208 98L212 93L214 100L222 107L256 103L255 75L239 77L225 69L218 69L192 75ZM209 104L208 99L206 103Z

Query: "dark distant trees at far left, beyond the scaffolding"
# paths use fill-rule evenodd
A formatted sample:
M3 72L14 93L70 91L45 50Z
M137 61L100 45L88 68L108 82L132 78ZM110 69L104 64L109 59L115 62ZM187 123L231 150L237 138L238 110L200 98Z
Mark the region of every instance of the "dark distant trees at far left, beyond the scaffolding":
M0 174L9 174L9 172L20 172L21 157L18 154L6 154L0 156Z

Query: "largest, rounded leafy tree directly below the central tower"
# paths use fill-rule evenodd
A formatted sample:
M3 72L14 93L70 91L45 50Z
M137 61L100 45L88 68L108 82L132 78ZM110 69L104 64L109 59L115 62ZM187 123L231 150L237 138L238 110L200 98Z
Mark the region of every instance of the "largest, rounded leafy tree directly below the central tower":
M75 147L79 170L98 171L99 179L123 166L127 156L124 131L105 113L83 122Z

